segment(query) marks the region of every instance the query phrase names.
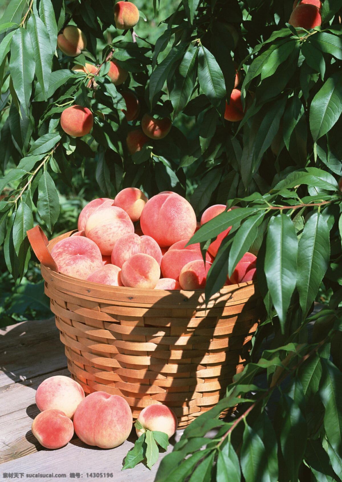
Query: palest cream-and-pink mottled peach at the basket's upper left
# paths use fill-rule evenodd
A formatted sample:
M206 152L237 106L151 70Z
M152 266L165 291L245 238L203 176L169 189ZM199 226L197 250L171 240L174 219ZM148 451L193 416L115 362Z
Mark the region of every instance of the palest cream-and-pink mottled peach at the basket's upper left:
M126 211L109 206L94 211L87 219L84 230L87 238L100 248L101 254L109 256L121 236L134 233L134 226Z

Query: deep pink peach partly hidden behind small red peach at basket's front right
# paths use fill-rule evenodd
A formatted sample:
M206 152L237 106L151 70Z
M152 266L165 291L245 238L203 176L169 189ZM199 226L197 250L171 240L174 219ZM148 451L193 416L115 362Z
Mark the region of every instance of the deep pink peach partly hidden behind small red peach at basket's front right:
M199 243L190 244L185 247L190 240L178 241L164 254L161 260L160 269L164 278L172 278L179 281L179 275L182 268L190 261L202 260L202 254ZM206 253L206 261L212 262L213 257L210 253Z

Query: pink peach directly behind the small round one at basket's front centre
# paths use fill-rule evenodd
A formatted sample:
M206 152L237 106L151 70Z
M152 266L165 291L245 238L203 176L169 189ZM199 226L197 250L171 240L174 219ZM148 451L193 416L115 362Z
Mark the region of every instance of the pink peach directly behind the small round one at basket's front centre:
M149 254L160 266L162 254L157 242L150 236L139 236L135 233L125 234L116 243L112 251L113 265L122 268L122 265L133 254Z

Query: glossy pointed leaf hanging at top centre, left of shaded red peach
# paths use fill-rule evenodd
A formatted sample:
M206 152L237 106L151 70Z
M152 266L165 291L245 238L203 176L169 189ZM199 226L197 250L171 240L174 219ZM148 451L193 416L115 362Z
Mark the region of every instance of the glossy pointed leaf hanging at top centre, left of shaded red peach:
M215 57L203 45L198 49L198 81L211 104L223 114L226 97L224 76Z

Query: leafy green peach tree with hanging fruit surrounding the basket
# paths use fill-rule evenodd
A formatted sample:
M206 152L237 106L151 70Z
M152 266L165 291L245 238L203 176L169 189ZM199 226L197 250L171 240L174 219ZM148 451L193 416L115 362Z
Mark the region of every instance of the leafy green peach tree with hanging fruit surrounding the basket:
M0 20L7 269L25 275L26 230L52 233L56 185L72 192L76 173L88 173L87 201L135 186L185 196L198 219L226 204L192 238L204 253L232 226L206 297L257 254L263 323L250 363L185 429L156 481L341 481L342 0L174 0L160 25L164 0L153 0L149 29L147 2L133 3L136 25L130 2L121 18L111 0L11 0ZM234 420L218 419L236 404Z

